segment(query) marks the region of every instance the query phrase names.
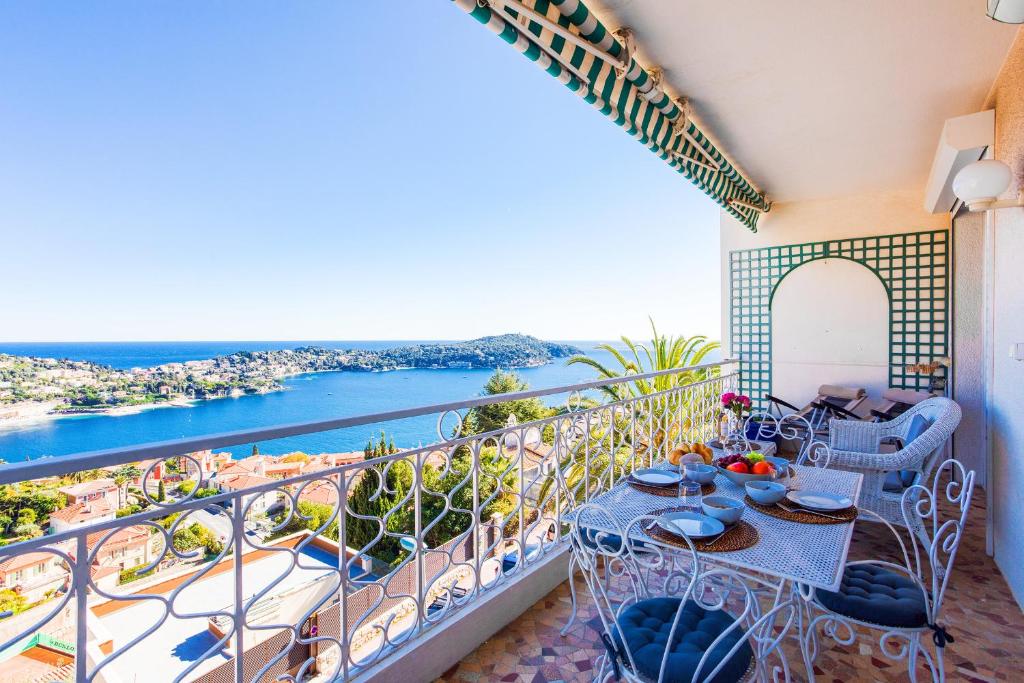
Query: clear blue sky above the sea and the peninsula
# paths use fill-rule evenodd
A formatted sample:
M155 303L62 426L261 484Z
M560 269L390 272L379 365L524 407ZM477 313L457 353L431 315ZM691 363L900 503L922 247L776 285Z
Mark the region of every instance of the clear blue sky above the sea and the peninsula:
M718 335L717 207L447 0L12 0L0 45L0 340Z

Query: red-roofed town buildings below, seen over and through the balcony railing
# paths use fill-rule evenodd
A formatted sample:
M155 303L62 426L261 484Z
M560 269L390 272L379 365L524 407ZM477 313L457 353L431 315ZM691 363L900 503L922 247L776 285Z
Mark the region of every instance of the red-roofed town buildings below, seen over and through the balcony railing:
M514 425L515 419L511 418L508 424ZM513 439L505 446L509 457L521 455L531 477L537 476L541 463L551 453L551 446L542 442L537 429L527 432L523 443ZM350 580L346 592L351 594L350 600L353 604L366 603L364 608L370 609L378 599L376 582L386 575L396 582L409 581L411 578L404 574L414 571L415 565L382 559L377 550L368 550L364 542L351 538L348 547L341 548L336 533L332 535L330 529L326 532L314 529L338 510L335 468L396 453L400 451L381 434L376 445L372 441L359 452L317 455L294 452L274 456L261 454L253 446L252 455L236 460L229 453L208 450L179 458L142 461L36 479L16 486L0 486L0 545L101 525L152 510L151 501L173 505L189 498L246 492L279 482L276 487L237 499L245 511L242 562L247 581L259 583L271 577L286 577L273 592L252 607L250 618L253 623L263 623L291 617L284 610L305 609L315 603L329 587L332 571L336 570L333 568L346 565ZM444 453L438 451L427 455L424 466L440 469L445 462ZM312 478L305 486L284 481L316 472L325 472L324 477ZM348 480L350 506L355 505L353 495L359 495L359 482L365 473L366 470L360 470ZM362 494L366 494L365 488ZM313 521L293 518L291 523L283 522L291 507L289 496L297 501L297 512ZM90 646L109 649L135 633L136 621L141 618L139 614L146 609L147 603L128 596L168 594L189 582L203 581L203 591L179 594L176 604L195 601L196 610L212 606L227 608L230 598L221 598L218 587L229 581L230 572L221 573L216 568L221 562L232 561L231 519L236 513L229 503L217 502L191 510L183 520L179 520L182 513L171 512L151 522L126 523L89 532L85 547L91 580L89 609L94 618L94 626L90 627ZM501 520L500 514L481 520L484 523L480 527L480 543L489 549L481 566L492 581L513 570L518 561L514 542L508 542L512 544L508 551L506 543L501 542ZM542 542L547 531L548 526L537 524L531 531L532 542ZM173 551L167 547L169 543L173 544ZM266 548L293 549L302 562L290 565L289 555L268 555ZM438 548L452 552L453 560L463 558L464 563L476 552L458 539L445 541ZM54 604L61 604L61 599L72 590L69 562L78 561L78 555L76 542L63 541L47 545L44 551L22 553L0 562L0 641L18 633L18 629L38 614L54 609ZM345 564L339 563L341 557L345 558ZM211 567L213 571L209 571ZM467 589L462 584L468 581L464 574L465 566L453 565L444 575L446 582L457 584L454 590L464 592ZM443 583L439 582L438 586ZM428 597L431 611L442 609L447 599L442 588L432 589ZM207 604L211 599L221 600L224 605ZM327 611L337 609L336 600L330 604L333 606L327 607ZM374 620L353 636L353 651L373 651L380 638L381 625L389 624L388 628L397 634L412 624L408 605L400 600L389 600L377 611ZM65 606L56 613L47 629L0 652L0 661L7 668L0 672L0 683L37 680L34 678L37 674L41 677L38 680L47 681L65 680L62 677L70 676L76 657L74 609ZM202 623L186 618L168 621L161 627L166 642L161 640L151 647L136 648L132 656L137 652L139 656L166 658L170 656L166 643L177 642L178 638L195 640L206 647L225 627L221 622L221 617L210 617ZM169 664L174 660L169 659ZM120 664L126 670L144 665L144 661L134 660ZM322 666L330 670L327 660ZM214 671L207 669L196 672L197 676L203 674L197 680L208 680L207 676L213 677L209 680L216 678ZM13 678L4 678L8 672Z

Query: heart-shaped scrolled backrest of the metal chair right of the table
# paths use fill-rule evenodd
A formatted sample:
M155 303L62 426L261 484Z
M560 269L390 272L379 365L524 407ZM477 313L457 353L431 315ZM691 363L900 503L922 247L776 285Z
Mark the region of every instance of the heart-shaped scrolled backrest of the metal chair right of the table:
M948 476L943 476L948 472ZM903 492L903 521L910 531L913 565L923 585L931 582L929 620L935 624L942 607L974 495L974 470L955 460L943 462L931 487L913 484ZM944 517L943 507L949 516ZM909 564L909 558L906 558Z

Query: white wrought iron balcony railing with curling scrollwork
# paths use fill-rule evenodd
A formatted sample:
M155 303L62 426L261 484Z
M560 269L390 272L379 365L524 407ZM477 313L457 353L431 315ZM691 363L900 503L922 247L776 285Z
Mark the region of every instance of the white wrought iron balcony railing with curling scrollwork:
M0 663L42 638L65 643L76 681L351 680L560 550L563 511L711 436L738 377L725 360L5 465L0 484L143 463L144 509L0 548L0 568L59 586L0 613ZM487 433L465 422L544 396L567 399ZM217 482L209 450L425 415L436 443L197 495ZM194 486L160 501L167 459ZM128 556L144 561L122 567Z

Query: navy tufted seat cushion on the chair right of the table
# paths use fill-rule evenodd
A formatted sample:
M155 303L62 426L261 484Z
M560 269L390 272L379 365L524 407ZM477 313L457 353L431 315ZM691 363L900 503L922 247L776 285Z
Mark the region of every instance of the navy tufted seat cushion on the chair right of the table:
M848 564L839 591L815 595L822 607L868 624L916 629L928 623L921 588L905 575L873 564Z

